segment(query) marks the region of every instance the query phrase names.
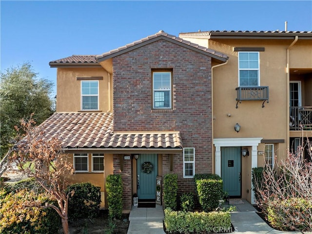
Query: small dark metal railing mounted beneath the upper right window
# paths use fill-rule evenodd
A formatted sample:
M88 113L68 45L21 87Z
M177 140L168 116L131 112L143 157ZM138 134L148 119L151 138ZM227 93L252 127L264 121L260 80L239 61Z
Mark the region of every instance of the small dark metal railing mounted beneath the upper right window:
M265 101L269 103L269 86L240 86L235 90L237 91L236 108L238 102L242 101L263 101L262 108Z

